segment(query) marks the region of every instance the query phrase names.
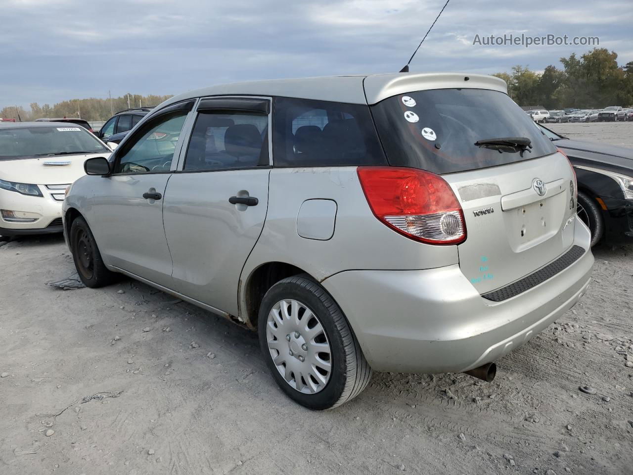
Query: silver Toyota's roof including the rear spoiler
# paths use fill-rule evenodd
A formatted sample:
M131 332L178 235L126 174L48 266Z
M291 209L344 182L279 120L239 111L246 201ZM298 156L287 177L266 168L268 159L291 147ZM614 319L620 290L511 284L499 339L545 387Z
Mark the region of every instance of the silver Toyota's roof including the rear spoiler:
M272 79L203 87L167 99L167 106L207 96L281 96L351 104L375 104L405 92L425 89L492 89L508 92L503 79L470 73L386 73L373 75Z

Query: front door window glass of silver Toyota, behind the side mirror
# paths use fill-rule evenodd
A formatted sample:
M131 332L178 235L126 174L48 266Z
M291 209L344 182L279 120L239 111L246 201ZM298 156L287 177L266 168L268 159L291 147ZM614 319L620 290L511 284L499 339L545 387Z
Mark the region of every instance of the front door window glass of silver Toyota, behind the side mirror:
M138 138L134 137L132 143L124 145L122 155L117 156L114 173L171 170L173 153L186 117L187 111L179 110L149 122L147 127L139 130Z

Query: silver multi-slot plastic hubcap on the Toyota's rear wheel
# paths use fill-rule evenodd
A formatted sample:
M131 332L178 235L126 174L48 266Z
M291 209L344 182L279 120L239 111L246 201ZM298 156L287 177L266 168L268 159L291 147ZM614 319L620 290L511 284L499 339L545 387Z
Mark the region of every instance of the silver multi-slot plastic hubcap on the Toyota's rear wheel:
M291 388L315 394L332 374L332 348L318 317L303 303L280 300L268 312L266 342L273 364Z

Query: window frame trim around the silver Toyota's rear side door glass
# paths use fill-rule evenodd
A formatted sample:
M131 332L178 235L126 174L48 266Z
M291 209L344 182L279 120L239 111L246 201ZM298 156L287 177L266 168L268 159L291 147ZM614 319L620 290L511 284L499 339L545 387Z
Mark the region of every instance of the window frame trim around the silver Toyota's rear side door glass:
M239 167L239 168L218 168L216 170L184 170L184 166L185 166L185 158L187 155L187 148L189 148L189 141L191 140L191 135L194 129L194 125L196 124L196 119L197 116L199 114L198 109L201 110L211 110L210 107L206 107L203 106L204 101L207 101L209 99L213 99L215 101L215 99L231 99L230 101L222 101L222 106L218 107L217 110L221 111L255 111L255 112L263 112L263 110L261 109L254 109L252 108L248 108L248 109L244 109L244 105L241 105L240 103L237 103L237 99L240 100L248 100L248 99L259 99L258 102L261 103L262 101L266 100L268 101L268 113L266 114L266 117L268 117L268 165L260 165L258 167ZM180 134L180 137L184 136L184 132L185 129L187 134L185 137L186 143L183 144L180 148L180 155L179 155L179 160L178 160L178 164L175 168L175 170L173 170L173 172L175 173L213 173L213 172L231 172L231 171L237 171L237 170L269 170L270 168L273 167L273 127L272 127L272 116L273 116L273 108L272 108L272 102L273 98L272 96L235 96L235 95L227 95L227 96L204 96L203 98L197 98L196 104L194 105L193 109L191 110L191 112L189 113L189 117L187 117L187 120L185 121L185 125L182 129L182 133ZM211 101L209 101L210 103ZM256 101L249 101L249 103L253 104ZM209 104L207 103L207 104ZM236 107L228 107L227 105L229 105L230 103L234 103ZM218 105L220 105L220 101L218 101ZM255 107L261 107L261 105L254 105ZM213 108L213 110L215 110L215 108ZM190 120L191 119L191 120Z

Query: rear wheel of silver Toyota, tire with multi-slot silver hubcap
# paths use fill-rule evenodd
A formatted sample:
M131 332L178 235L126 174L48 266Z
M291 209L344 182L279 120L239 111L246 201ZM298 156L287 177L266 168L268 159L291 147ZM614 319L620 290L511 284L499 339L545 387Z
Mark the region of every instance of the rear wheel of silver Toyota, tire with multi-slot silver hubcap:
M261 301L261 352L273 378L308 409L332 409L365 389L372 369L341 308L306 275L273 285Z

